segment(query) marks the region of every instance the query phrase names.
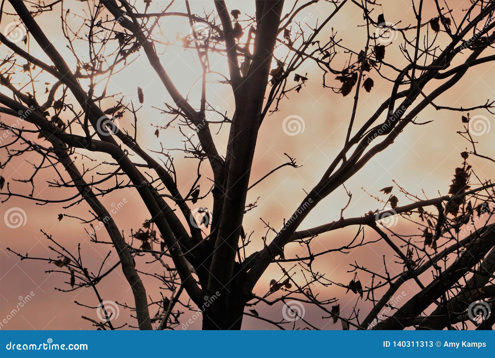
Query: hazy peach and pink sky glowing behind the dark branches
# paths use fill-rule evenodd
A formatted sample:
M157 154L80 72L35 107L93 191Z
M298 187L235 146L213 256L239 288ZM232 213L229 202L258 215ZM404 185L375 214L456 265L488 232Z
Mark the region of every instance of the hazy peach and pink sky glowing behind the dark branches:
M320 1L322 2L322 1ZM417 2L417 1L416 1ZM163 1L153 1L151 6L163 5ZM435 16L435 9L432 1L425 1L425 18ZM292 8L293 2L287 1L284 6L283 14ZM414 14L410 7L410 1L382 1L382 10L387 21L404 27L415 22ZM454 0L448 1L452 9L454 19L463 15L463 9L467 8L469 1ZM88 4L65 2L64 10L70 8L71 19L70 26L74 29L79 28L83 20L83 11L87 10ZM140 5L141 6L141 5ZM246 18L245 14L254 14L253 5L246 1L227 1L230 9L238 8L241 10L241 18ZM142 7L142 6L141 6ZM201 13L203 10L211 10L211 4L206 1L191 1L193 13ZM329 14L333 6L330 3L318 3L308 7L298 15L305 25L314 27L321 23L322 19ZM151 8L150 10L153 10ZM169 11L185 11L182 2L174 3ZM376 17L380 12L377 8L374 12ZM60 30L60 6L57 5L53 12L47 12L37 17L40 26L46 32L51 42L64 55L69 66L74 66L72 54L67 45L66 39ZM111 16L110 16L111 17ZM0 30L4 31L5 26L14 20L12 16L2 17ZM400 21L400 22L399 22ZM346 4L342 11L331 20L322 38L328 38L331 28L338 32L337 37L342 38L347 48L359 51L365 46L365 24L362 14L357 7L351 3ZM157 39L166 43L167 41L175 42L176 34L185 35L190 31L189 24L185 18L167 17L160 20L160 29L162 34L157 35ZM87 27L82 28L81 34L87 32ZM429 34L431 36L431 34ZM440 48L445 47L445 34L439 36L438 44ZM398 37L392 41L392 45L387 47L386 60L394 63L397 68L404 67L407 62L399 50L401 38ZM40 58L47 61L45 54L35 44L33 39L30 40L31 52L40 55ZM199 104L199 85L197 83L200 75L200 67L195 58L195 51L184 51L180 46L163 46L157 45L160 53L160 60L178 90L182 94L187 94L188 99L197 107ZM74 43L74 51L80 58L87 58L88 49L84 46L84 41L78 40ZM285 55L284 49L275 52L277 58ZM2 57L6 54L6 48L0 46ZM348 54L342 51L335 59L335 68L343 66L348 59ZM452 65L461 63L459 59ZM21 61L22 62L22 61ZM229 86L218 83L222 77L218 74L227 75L227 61L225 57L212 54L210 57L212 72L208 75L207 96L208 102L213 107L220 108L219 111L233 115L233 95ZM167 130L160 130L159 137L154 135L155 127L153 125L165 125L172 119L171 115L164 114L160 109L165 108L164 102L172 103L170 96L165 92L161 82L155 76L150 68L144 55L131 55L125 66L119 67L120 72L115 74L108 83L108 93L118 94L117 97L125 96L128 101L139 104L137 98L137 87L141 87L144 92L145 102L139 112L138 121L138 138L140 143L149 150L160 150L160 142L165 149L173 150L183 147L182 138L178 132L178 127L174 126ZM216 72L216 73L215 73ZM343 97L336 94L332 89L323 88L322 71L315 63L306 61L297 73L304 75L307 73L308 81L299 93L291 92L287 99L280 104L280 111L274 112L267 116L261 126L256 152L254 156L250 183L254 183L260 177L265 175L271 169L286 162L287 158L284 153L296 158L299 168L286 166L269 176L264 182L255 186L248 192L247 203L256 202L257 206L248 211L245 215L244 227L246 232L253 232L252 243L249 245L249 253L253 250L262 248L261 237L266 235L264 223L269 222L273 227L281 227L284 218L287 219L295 211L297 205L305 197L304 191L309 191L320 180L326 168L333 160L335 155L341 150L346 132L348 121L352 108L351 95ZM448 106L470 107L486 102L493 98L493 89L495 78L493 76L494 65L485 63L469 69L468 73L459 83L446 91L437 99L437 104ZM392 74L389 72L388 74ZM390 81L381 78L376 71L370 73L374 80L374 87L370 93L361 91L360 100L356 112L356 121L354 128L359 128L376 107L386 99L391 92L392 84ZM43 92L43 82L49 79L46 74L39 77L40 94ZM327 74L328 83L337 85L334 77ZM22 77L19 78L22 81ZM101 85L103 86L103 84ZM102 87L96 88L96 92L101 91ZM431 87L427 88L431 90ZM9 94L8 91L2 93ZM11 95L11 93L9 94ZM105 105L111 107L115 100L109 99ZM104 109L104 108L103 108ZM482 136L477 137L479 141L477 150L479 153L492 155L495 153L495 121L493 115L488 115L486 111L474 110L470 112L471 116L485 115L491 125L491 130ZM299 129L296 135L288 135L284 131L284 119L289 116L297 116L299 119ZM1 115L2 121L8 121L4 115ZM14 120L11 119L10 120ZM216 115L211 120L220 120ZM399 205L410 203L403 195L399 195L397 183L407 189L410 193L420 198L435 198L439 195L446 195L450 180L454 174L454 168L462 162L460 152L468 146L468 142L463 140L457 131L463 130L461 122L461 113L446 110L435 110L432 106L427 107L416 118L416 122L422 123L432 121L427 125L409 125L404 132L398 137L396 142L388 150L379 153L370 160L369 163L355 176L350 178L346 183L346 188L352 193L352 200L344 211L344 217L355 217L364 215L369 210L375 210L383 207L375 198L385 199L386 196L379 193L379 190L387 186L395 186L394 194L399 199ZM119 127L131 130L133 118L124 116L119 119ZM227 143L228 127L226 125L214 127L218 130L215 135L215 143L220 153L225 155L225 144ZM2 143L3 144L3 143ZM0 161L4 161L5 150L0 150ZM171 151L176 166L179 190L185 194L189 191L196 179L198 170L197 161L185 158L184 153L180 151ZM93 160L92 165L109 158L104 155L95 155L85 153ZM152 154L158 158L158 155ZM39 157L33 156L31 159L19 157L13 160L1 173L4 178L9 178L8 182L12 191L29 193L30 188L26 183L19 183L13 179L19 179L28 175L32 171L31 161L39 162ZM90 161L79 156L76 159L78 165L82 163L91 165ZM482 179L494 178L495 165L493 162L476 157L469 158L469 164L473 166L474 172ZM102 168L109 168L103 165ZM103 171L103 169L100 169ZM206 164L199 169L204 175L200 180L201 193L205 193L210 188L211 182L207 179L211 172ZM52 169L46 169L36 177L36 186L34 196L37 198L62 199L73 195L70 190L60 190L51 188L47 180L54 178ZM318 226L340 217L341 209L347 204L347 194L344 188L337 189L329 197L325 198L318 204L308 217L303 221L300 229ZM101 198L103 204L108 207L118 208L115 214L117 224L129 234L131 228L138 228L149 214L140 201L137 193L131 189L123 189L119 193L110 193ZM67 205L67 204L65 204ZM198 206L211 207L211 197L205 198L198 202ZM98 271L101 261L106 256L109 247L95 245L89 241L85 229L89 225L81 224L78 219L64 217L61 221L57 216L59 213L65 213L72 216L89 218L89 207L85 203L74 205L64 209L60 204L36 205L35 203L22 198L11 198L7 202L0 204L0 214L4 215L10 208L20 207L26 216L23 219L23 225L18 228L9 228L4 222L0 221L0 321L7 317L10 312L18 307L19 302L25 301L29 297L29 302L20 309L16 314L7 320L7 323L1 325L1 329L93 329L91 323L81 318L86 315L97 319L96 309L79 307L74 301L80 302L87 306L97 306L98 302L89 289L78 290L76 292L59 292L54 290L55 287L67 289L68 276L57 273L45 273L46 270L53 269L53 264L48 264L38 260L23 260L8 252L6 248L29 256L47 257L50 254L48 240L44 237L41 230L51 235L61 245L70 251L77 249L77 244L81 243L81 253L84 262L87 263L90 271ZM414 235L422 231L414 223L399 218L395 224L397 232ZM320 235L313 240L313 252L328 250L332 247L339 247L348 242L356 233L356 228L351 227L343 230L333 231L331 233ZM101 231L102 238L104 233ZM368 240L377 239L376 234L365 232ZM273 235L269 235L269 239ZM301 248L297 244L290 244L285 250L286 257L293 257L295 254L301 254ZM348 271L351 269L349 263L356 261L359 265L364 265L369 269L376 269L383 272L383 256L391 262L388 267L391 272L399 273L401 266L394 265L393 254L391 250L381 243L368 245L356 250L351 250L346 254L334 253L320 256L314 264L314 268L326 272L328 278L332 281L348 282L352 279L353 274ZM149 270L148 272L160 271L159 264L145 265L149 257L137 257L136 262L140 269ZM105 261L108 266L117 262L115 255ZM262 294L269 289L271 279L280 278L280 270L276 267L269 268L258 282L255 290ZM300 277L300 276L299 276ZM142 276L147 288L148 295L157 299L159 297L159 285L151 276ZM362 276L363 284L369 280L369 277ZM104 300L118 301L132 305L132 293L127 282L124 280L120 270L112 272L99 285L100 293ZM346 295L346 290L336 285L323 287L316 285L315 290L320 293L321 297L338 298L341 304L341 313L344 316L351 314L352 306L355 304L357 297L355 295ZM412 292L417 290L414 285L404 285L403 296L412 296ZM400 290L399 290L400 291ZM401 299L402 300L402 299ZM365 312L370 309L368 302L359 304ZM316 327L320 329L341 329L340 326L332 324L331 319L322 319L322 311L314 307L305 307L306 316ZM266 315L272 319L281 319L283 306L281 304L269 307L259 305L256 310L261 315ZM151 311L153 315L155 312ZM192 313L185 313L189 317ZM129 318L129 312L120 309L119 317L115 319L116 324L135 323L134 319ZM304 324L297 322L297 326L302 327ZM195 320L188 328L200 328L200 320ZM245 317L243 329L272 329L273 326L251 317ZM179 326L178 329L181 329Z

